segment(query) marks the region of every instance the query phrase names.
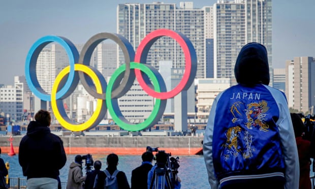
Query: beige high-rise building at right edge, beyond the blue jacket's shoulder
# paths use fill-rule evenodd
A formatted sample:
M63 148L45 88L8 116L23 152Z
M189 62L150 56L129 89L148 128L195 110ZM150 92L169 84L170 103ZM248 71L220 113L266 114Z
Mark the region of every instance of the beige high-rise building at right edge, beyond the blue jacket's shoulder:
M308 114L315 105L315 58L294 57L286 61L286 96L290 108Z

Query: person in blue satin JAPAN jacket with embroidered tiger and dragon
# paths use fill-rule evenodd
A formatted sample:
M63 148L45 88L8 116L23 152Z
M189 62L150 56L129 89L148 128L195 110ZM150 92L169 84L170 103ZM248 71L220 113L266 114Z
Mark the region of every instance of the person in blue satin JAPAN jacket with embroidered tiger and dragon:
M237 85L215 98L203 154L212 189L299 187L299 157L285 94L268 86L268 55L260 43L242 47Z

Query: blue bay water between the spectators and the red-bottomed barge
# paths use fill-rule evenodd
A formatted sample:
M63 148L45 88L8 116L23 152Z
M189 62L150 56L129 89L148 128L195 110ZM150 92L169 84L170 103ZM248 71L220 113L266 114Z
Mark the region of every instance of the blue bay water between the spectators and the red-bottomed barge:
M85 155L85 154L82 154ZM172 155L176 157L176 155ZM73 162L75 155L67 155L67 163L60 170L60 179L67 182L69 165ZM92 154L93 160L102 162L102 170L106 168L106 155ZM1 154L1 158L5 162L10 163L9 177L25 178L22 174L22 168L18 163L18 155L8 156ZM133 169L141 165L141 155L119 155L118 170L125 172L129 184L131 184L131 172ZM207 171L202 155L179 156L178 176L181 178L181 188L210 188ZM49 163L49 162L47 162ZM83 164L84 166L84 164ZM45 167L43 167L45 169ZM85 174L85 171L83 171Z

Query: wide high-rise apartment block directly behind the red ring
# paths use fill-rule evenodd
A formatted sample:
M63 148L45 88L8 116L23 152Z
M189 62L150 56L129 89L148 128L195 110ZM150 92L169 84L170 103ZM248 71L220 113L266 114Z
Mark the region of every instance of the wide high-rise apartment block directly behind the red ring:
M197 78L205 77L204 10L194 9L192 2L176 4L119 4L117 7L117 33L127 38L137 49L141 40L156 29L176 30L188 37L197 53ZM184 54L175 40L163 37L151 47L146 64L159 70L159 61L171 61L172 68L184 68ZM119 65L124 63L119 51Z

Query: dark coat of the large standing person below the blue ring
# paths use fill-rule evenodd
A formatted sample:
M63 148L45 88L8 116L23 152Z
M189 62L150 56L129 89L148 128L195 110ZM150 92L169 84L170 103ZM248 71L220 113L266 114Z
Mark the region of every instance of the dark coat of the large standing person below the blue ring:
M27 133L19 146L19 164L23 175L29 178L57 179L59 170L67 161L62 140L47 126L30 121Z

